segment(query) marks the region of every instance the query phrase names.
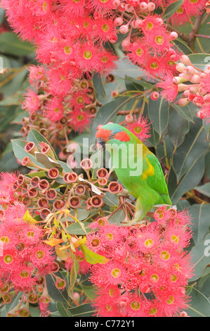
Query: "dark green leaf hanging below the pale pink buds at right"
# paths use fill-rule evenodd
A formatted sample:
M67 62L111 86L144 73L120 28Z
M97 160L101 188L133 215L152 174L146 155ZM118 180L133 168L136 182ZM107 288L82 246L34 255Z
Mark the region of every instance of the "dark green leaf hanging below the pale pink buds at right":
M178 113L170 107L169 111L169 125L168 125L168 132L169 132L169 139L173 144L174 149L176 150L178 146L181 146L185 139L185 135L190 130L190 125L188 120L180 117Z

